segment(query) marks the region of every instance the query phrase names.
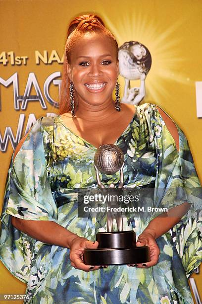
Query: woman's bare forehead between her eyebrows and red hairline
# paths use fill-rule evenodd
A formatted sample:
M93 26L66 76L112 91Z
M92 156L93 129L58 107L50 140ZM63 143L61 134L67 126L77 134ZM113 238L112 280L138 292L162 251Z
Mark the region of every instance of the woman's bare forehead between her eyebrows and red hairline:
M112 40L102 33L85 33L76 42L71 52L71 58L80 56L97 57L102 54L115 56L115 46Z

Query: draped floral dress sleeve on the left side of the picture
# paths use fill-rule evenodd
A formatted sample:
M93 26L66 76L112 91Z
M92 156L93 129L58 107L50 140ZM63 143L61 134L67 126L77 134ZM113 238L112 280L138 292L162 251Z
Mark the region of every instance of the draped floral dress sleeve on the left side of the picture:
M32 254L42 242L13 227L10 215L57 222L57 208L46 171L42 121L43 118L37 120L15 159L11 158L0 217L0 260L23 282L28 281Z

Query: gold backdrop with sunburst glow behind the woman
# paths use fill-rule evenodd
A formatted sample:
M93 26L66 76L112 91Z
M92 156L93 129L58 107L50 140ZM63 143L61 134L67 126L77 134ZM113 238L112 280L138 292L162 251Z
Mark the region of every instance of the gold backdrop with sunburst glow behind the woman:
M36 118L57 112L51 100L58 101L67 27L73 17L89 12L103 18L119 46L136 40L149 49L152 68L142 103L160 105L182 128L202 181L202 119L197 118L195 87L202 81L201 0L1 0L1 202L11 142L15 146ZM119 83L122 96L121 76ZM193 277L202 290L202 267ZM25 291L2 264L0 281L1 294Z

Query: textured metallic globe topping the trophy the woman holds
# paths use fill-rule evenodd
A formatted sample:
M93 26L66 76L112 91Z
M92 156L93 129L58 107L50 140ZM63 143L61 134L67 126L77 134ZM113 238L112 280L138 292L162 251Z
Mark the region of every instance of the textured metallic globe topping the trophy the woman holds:
M124 155L120 148L112 144L102 145L94 156L94 163L104 174L113 174L120 170Z

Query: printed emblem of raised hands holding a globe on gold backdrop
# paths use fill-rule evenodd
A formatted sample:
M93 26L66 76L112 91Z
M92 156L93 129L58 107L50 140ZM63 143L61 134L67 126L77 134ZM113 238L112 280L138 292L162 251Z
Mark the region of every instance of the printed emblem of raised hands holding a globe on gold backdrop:
M148 48L138 41L125 42L119 47L119 74L124 77L122 103L138 105L145 97L145 79L152 66ZM132 87L130 80L141 80L140 87Z

